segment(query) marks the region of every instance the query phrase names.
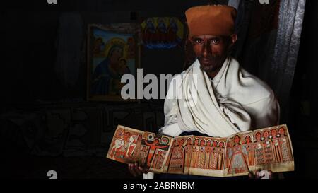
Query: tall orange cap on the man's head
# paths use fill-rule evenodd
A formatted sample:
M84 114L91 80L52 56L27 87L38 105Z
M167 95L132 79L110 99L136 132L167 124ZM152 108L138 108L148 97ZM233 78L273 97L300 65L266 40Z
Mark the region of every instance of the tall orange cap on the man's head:
M194 6L185 12L189 37L194 35L225 35L234 33L237 11L232 6Z

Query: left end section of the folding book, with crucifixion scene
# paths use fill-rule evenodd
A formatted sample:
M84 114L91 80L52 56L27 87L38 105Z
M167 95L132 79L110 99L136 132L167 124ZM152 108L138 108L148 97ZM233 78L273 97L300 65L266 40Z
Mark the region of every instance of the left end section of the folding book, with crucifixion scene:
M137 162L152 172L165 172L164 165L173 140L170 136L119 125L114 132L107 158L121 163Z

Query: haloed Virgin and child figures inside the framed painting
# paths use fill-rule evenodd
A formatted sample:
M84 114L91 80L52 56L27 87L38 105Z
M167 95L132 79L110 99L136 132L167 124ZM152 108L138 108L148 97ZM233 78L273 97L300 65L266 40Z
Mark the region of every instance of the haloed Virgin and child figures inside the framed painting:
M96 65L92 74L91 93L93 95L120 95L124 83L120 80L124 74L131 74L128 62L134 56L132 37L126 41L114 37L104 43L101 37L95 39L93 62ZM131 59L130 59L131 61Z

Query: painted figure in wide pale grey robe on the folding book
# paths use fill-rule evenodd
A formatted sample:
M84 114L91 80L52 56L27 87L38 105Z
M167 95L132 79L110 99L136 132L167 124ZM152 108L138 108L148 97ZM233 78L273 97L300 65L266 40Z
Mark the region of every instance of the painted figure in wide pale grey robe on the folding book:
M245 146L240 144L240 136L234 137L233 154L230 161L230 168L228 168L228 174L237 174L243 172L249 172L244 154L248 154Z

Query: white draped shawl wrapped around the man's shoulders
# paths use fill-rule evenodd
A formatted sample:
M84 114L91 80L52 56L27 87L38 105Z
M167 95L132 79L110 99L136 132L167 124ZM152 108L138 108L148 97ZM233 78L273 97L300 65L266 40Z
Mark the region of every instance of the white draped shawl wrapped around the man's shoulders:
M235 59L225 60L211 81L196 60L175 76L165 99L165 127L160 133L178 136L199 131L227 137L240 131L278 124L279 105L273 91Z

